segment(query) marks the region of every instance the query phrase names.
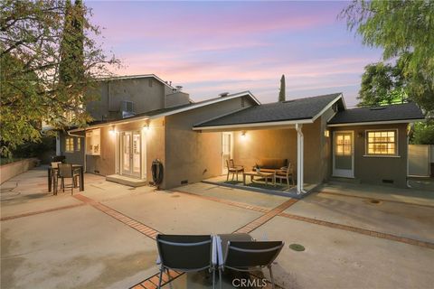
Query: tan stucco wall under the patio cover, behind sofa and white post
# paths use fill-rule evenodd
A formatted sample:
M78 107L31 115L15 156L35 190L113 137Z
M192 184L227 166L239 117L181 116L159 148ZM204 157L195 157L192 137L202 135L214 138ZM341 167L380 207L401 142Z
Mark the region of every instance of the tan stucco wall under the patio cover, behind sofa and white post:
M322 182L320 159L320 120L303 125L305 138L305 182ZM234 162L250 170L261 158L285 158L297 173L297 131L295 128L247 130L246 135L234 132ZM297 174L296 174L297 177Z

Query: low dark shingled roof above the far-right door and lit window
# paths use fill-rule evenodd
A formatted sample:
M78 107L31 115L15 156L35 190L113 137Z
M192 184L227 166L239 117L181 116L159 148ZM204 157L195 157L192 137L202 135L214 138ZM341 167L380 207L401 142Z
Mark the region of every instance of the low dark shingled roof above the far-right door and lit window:
M404 103L383 107L361 107L338 112L328 124L351 124L382 121L422 119L422 111L416 104Z

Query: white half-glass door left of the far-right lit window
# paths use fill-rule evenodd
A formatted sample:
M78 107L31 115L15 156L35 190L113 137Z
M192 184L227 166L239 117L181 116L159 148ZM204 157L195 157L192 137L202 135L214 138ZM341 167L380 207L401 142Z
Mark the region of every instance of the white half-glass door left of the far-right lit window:
M354 132L334 132L333 175L354 178Z

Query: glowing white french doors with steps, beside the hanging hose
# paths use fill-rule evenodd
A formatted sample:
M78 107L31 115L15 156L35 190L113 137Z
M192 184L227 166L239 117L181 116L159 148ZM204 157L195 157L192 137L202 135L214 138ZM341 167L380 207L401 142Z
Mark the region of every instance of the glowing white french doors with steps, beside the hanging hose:
M141 135L139 131L122 132L120 137L120 172L124 175L140 177Z

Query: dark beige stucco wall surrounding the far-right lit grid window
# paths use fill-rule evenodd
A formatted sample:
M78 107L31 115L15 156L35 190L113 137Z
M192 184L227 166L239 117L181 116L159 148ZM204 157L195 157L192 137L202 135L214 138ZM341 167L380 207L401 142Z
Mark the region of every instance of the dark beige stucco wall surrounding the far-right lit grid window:
M364 156L365 131L371 129L398 129L399 157ZM393 180L393 185L407 184L407 124L381 126L340 126L334 131L354 131L354 177L361 182L385 184L382 180Z

